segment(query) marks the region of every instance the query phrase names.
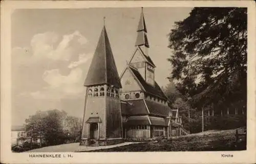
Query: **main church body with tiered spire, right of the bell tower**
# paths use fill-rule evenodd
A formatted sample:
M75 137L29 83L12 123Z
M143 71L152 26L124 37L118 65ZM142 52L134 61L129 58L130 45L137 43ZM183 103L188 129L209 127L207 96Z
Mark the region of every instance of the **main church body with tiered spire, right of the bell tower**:
M135 51L120 76L123 137L149 139L169 137L168 99L155 81L155 64L148 51L143 8L137 26Z

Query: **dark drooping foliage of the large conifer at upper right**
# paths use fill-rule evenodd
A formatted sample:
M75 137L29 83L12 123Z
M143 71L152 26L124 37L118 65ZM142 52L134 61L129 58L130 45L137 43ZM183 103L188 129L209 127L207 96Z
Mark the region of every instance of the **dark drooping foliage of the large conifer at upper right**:
M194 8L169 33L169 80L197 105L246 105L246 8Z

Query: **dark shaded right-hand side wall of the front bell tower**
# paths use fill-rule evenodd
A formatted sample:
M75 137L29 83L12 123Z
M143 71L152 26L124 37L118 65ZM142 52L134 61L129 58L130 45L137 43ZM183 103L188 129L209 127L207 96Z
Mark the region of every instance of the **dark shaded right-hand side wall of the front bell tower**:
M106 138L122 137L120 99L106 98Z

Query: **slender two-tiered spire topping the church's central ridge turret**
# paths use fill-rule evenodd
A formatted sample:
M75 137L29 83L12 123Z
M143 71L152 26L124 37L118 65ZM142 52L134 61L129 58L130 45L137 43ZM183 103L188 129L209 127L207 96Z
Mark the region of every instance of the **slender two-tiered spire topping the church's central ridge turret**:
M143 14L143 8L141 8L141 14L140 14L140 20L138 24L138 29L137 29L137 39L135 45L141 46L144 45L146 48L149 48L150 45L148 44L147 40L147 30L146 30L146 24L145 24L145 18Z

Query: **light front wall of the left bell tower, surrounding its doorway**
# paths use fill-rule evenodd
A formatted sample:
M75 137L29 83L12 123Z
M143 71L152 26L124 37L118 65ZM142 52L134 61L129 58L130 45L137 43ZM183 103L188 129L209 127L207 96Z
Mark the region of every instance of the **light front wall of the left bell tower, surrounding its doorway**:
M90 124L87 124L86 121L90 117L101 119L100 138L105 138L105 97L87 98L85 106L82 138L89 137Z

